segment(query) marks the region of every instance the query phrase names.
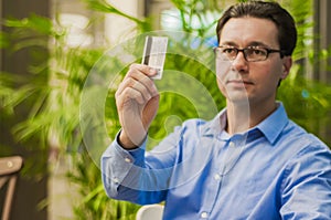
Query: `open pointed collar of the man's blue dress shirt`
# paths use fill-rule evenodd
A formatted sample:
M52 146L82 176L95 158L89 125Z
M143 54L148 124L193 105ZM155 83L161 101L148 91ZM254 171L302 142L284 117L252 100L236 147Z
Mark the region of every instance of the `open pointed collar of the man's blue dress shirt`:
M257 126L249 129L248 134L249 132L258 129L264 134L268 142L274 145L277 137L288 123L288 116L282 103L278 102L277 105L277 109ZM207 122L203 126L203 134L205 136L218 135L226 127L226 108L222 109L212 121Z

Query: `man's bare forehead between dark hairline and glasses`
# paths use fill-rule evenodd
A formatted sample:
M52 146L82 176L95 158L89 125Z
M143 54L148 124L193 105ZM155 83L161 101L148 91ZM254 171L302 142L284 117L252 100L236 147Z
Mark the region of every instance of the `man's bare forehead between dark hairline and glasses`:
M252 43L278 46L278 29L267 19L233 18L229 19L220 35L220 44L232 43L238 46L247 46Z

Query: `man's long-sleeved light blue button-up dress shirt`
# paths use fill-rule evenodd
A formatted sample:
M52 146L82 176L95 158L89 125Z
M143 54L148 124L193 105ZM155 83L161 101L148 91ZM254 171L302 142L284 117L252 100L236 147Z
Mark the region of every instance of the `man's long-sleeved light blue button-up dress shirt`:
M163 219L331 219L331 151L289 121L280 103L246 133L189 119L147 151L117 139L102 157L107 195L147 205L164 201Z

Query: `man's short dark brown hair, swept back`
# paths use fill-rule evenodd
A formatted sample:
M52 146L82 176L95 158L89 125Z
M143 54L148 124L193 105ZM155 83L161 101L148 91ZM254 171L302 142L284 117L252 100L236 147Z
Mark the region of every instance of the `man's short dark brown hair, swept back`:
M291 55L297 44L297 28L291 14L277 2L247 1L229 7L218 20L216 34L220 42L225 23L232 18L260 18L273 21L278 29L278 42L282 55Z

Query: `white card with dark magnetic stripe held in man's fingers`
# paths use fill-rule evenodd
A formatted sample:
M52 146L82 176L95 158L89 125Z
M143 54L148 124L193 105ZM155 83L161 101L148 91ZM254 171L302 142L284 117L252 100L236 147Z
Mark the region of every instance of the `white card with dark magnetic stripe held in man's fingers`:
M146 64L158 71L158 74L152 76L153 80L162 78L167 45L167 36L146 36L142 54L142 64Z

